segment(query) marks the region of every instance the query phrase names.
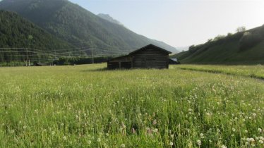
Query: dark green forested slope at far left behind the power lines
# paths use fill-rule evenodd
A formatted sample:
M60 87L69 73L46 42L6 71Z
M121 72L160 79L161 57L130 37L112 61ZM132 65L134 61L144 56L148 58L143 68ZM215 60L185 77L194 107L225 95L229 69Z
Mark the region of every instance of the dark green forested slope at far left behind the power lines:
M0 24L0 63L25 61L25 48L30 48L28 49L30 51L28 56L34 56L37 60L52 56L47 53L53 49L73 50L73 45L57 39L54 35L30 23L16 13L0 11ZM29 39L29 37L32 37L32 39ZM22 49L7 49L13 47ZM40 50L44 50L44 52Z

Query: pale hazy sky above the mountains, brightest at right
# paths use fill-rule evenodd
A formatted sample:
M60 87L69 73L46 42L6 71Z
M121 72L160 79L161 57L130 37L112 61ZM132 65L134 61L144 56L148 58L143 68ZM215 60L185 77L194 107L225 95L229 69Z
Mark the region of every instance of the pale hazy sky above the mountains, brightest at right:
M174 47L264 24L264 0L70 0Z

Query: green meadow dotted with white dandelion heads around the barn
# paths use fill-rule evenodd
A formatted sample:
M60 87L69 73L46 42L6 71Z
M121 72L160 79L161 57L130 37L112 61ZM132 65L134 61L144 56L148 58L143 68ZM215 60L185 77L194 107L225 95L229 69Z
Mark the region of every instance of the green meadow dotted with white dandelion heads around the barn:
M263 66L105 66L0 68L0 147L264 146Z

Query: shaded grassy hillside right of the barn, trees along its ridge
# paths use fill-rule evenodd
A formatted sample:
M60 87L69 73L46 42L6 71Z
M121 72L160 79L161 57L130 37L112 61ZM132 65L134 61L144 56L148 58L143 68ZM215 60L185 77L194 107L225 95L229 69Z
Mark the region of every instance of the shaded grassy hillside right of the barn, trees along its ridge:
M171 57L181 63L263 64L264 25L234 35L217 36Z

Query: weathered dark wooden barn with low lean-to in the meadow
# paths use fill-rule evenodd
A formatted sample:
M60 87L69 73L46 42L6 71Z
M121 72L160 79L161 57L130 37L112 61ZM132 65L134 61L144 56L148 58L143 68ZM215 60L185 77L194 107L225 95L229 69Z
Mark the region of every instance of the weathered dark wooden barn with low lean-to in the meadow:
M126 56L112 58L107 61L107 68L169 68L169 54L172 52L149 44Z

